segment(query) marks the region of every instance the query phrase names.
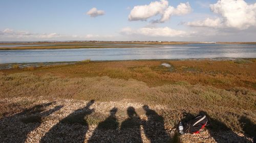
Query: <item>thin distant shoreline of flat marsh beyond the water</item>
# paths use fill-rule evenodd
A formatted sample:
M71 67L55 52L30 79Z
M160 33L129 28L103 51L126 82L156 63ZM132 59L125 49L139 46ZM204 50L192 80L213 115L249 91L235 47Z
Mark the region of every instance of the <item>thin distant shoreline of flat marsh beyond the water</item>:
M256 44L256 42L20 42L0 43L0 45L23 45L18 47L1 47L0 50L23 49L79 49L79 48L141 48L158 47L159 45L187 45L187 44ZM28 45L28 46L26 46ZM31 46L36 45L36 46Z

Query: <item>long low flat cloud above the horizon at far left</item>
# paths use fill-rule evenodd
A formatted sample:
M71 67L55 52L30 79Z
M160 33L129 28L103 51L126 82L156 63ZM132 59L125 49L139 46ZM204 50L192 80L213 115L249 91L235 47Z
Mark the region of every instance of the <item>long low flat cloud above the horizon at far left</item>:
M28 38L50 39L50 38L54 38L54 37L60 37L60 35L56 34L56 33L38 34L38 33L30 33L30 32L27 32L27 31L14 31L14 30L11 30L9 28L6 28L5 30L0 31L0 37L18 38L18 39L28 39Z

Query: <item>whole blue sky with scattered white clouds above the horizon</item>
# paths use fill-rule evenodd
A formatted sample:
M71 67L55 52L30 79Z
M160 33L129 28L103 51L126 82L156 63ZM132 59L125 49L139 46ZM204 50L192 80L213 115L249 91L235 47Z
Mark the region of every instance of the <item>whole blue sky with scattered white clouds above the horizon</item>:
M0 41L256 42L256 0L0 0Z

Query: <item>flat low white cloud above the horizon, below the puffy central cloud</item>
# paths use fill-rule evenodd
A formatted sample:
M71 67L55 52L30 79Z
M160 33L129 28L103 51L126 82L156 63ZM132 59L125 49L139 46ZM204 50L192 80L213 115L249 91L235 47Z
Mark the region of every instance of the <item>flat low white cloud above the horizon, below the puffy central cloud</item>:
M183 37L187 33L184 31L173 30L169 27L142 27L134 30L130 27L122 28L122 35L143 35L148 37Z

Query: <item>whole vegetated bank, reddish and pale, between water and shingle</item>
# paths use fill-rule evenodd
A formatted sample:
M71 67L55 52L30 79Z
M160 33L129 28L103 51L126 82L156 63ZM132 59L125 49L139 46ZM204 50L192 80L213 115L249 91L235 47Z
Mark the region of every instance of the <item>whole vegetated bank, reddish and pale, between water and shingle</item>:
M254 133L255 59L237 61L119 61L2 70L0 98L139 102L174 127L185 115L207 112L216 130ZM168 63L171 67L161 66ZM2 103L1 116L30 103ZM97 115L95 115L97 118ZM243 120L246 119L246 120ZM244 122L252 125L245 127ZM248 124L246 124L248 125Z

